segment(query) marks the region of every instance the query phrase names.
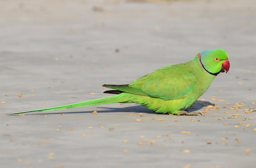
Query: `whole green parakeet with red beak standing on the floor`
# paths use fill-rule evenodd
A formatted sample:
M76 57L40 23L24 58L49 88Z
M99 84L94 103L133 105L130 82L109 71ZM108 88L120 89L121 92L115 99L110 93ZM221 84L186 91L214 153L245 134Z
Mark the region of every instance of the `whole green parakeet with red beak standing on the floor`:
M173 115L198 115L185 111L209 88L220 73L229 71L228 55L223 49L211 49L198 53L193 60L163 68L141 77L130 84L108 85L115 90L104 93L117 94L110 97L89 100L31 111L10 114L49 111L62 108L76 108L108 103L137 103L156 113Z

